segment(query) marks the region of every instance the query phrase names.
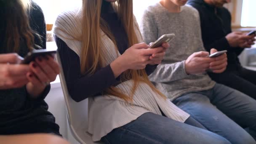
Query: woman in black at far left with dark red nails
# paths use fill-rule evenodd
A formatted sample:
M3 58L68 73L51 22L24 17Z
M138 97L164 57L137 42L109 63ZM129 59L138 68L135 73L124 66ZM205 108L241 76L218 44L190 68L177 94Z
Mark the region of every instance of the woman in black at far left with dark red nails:
M0 135L60 135L44 101L58 64L51 56L17 64L33 48L45 48L43 12L29 0L0 0L0 19Z

